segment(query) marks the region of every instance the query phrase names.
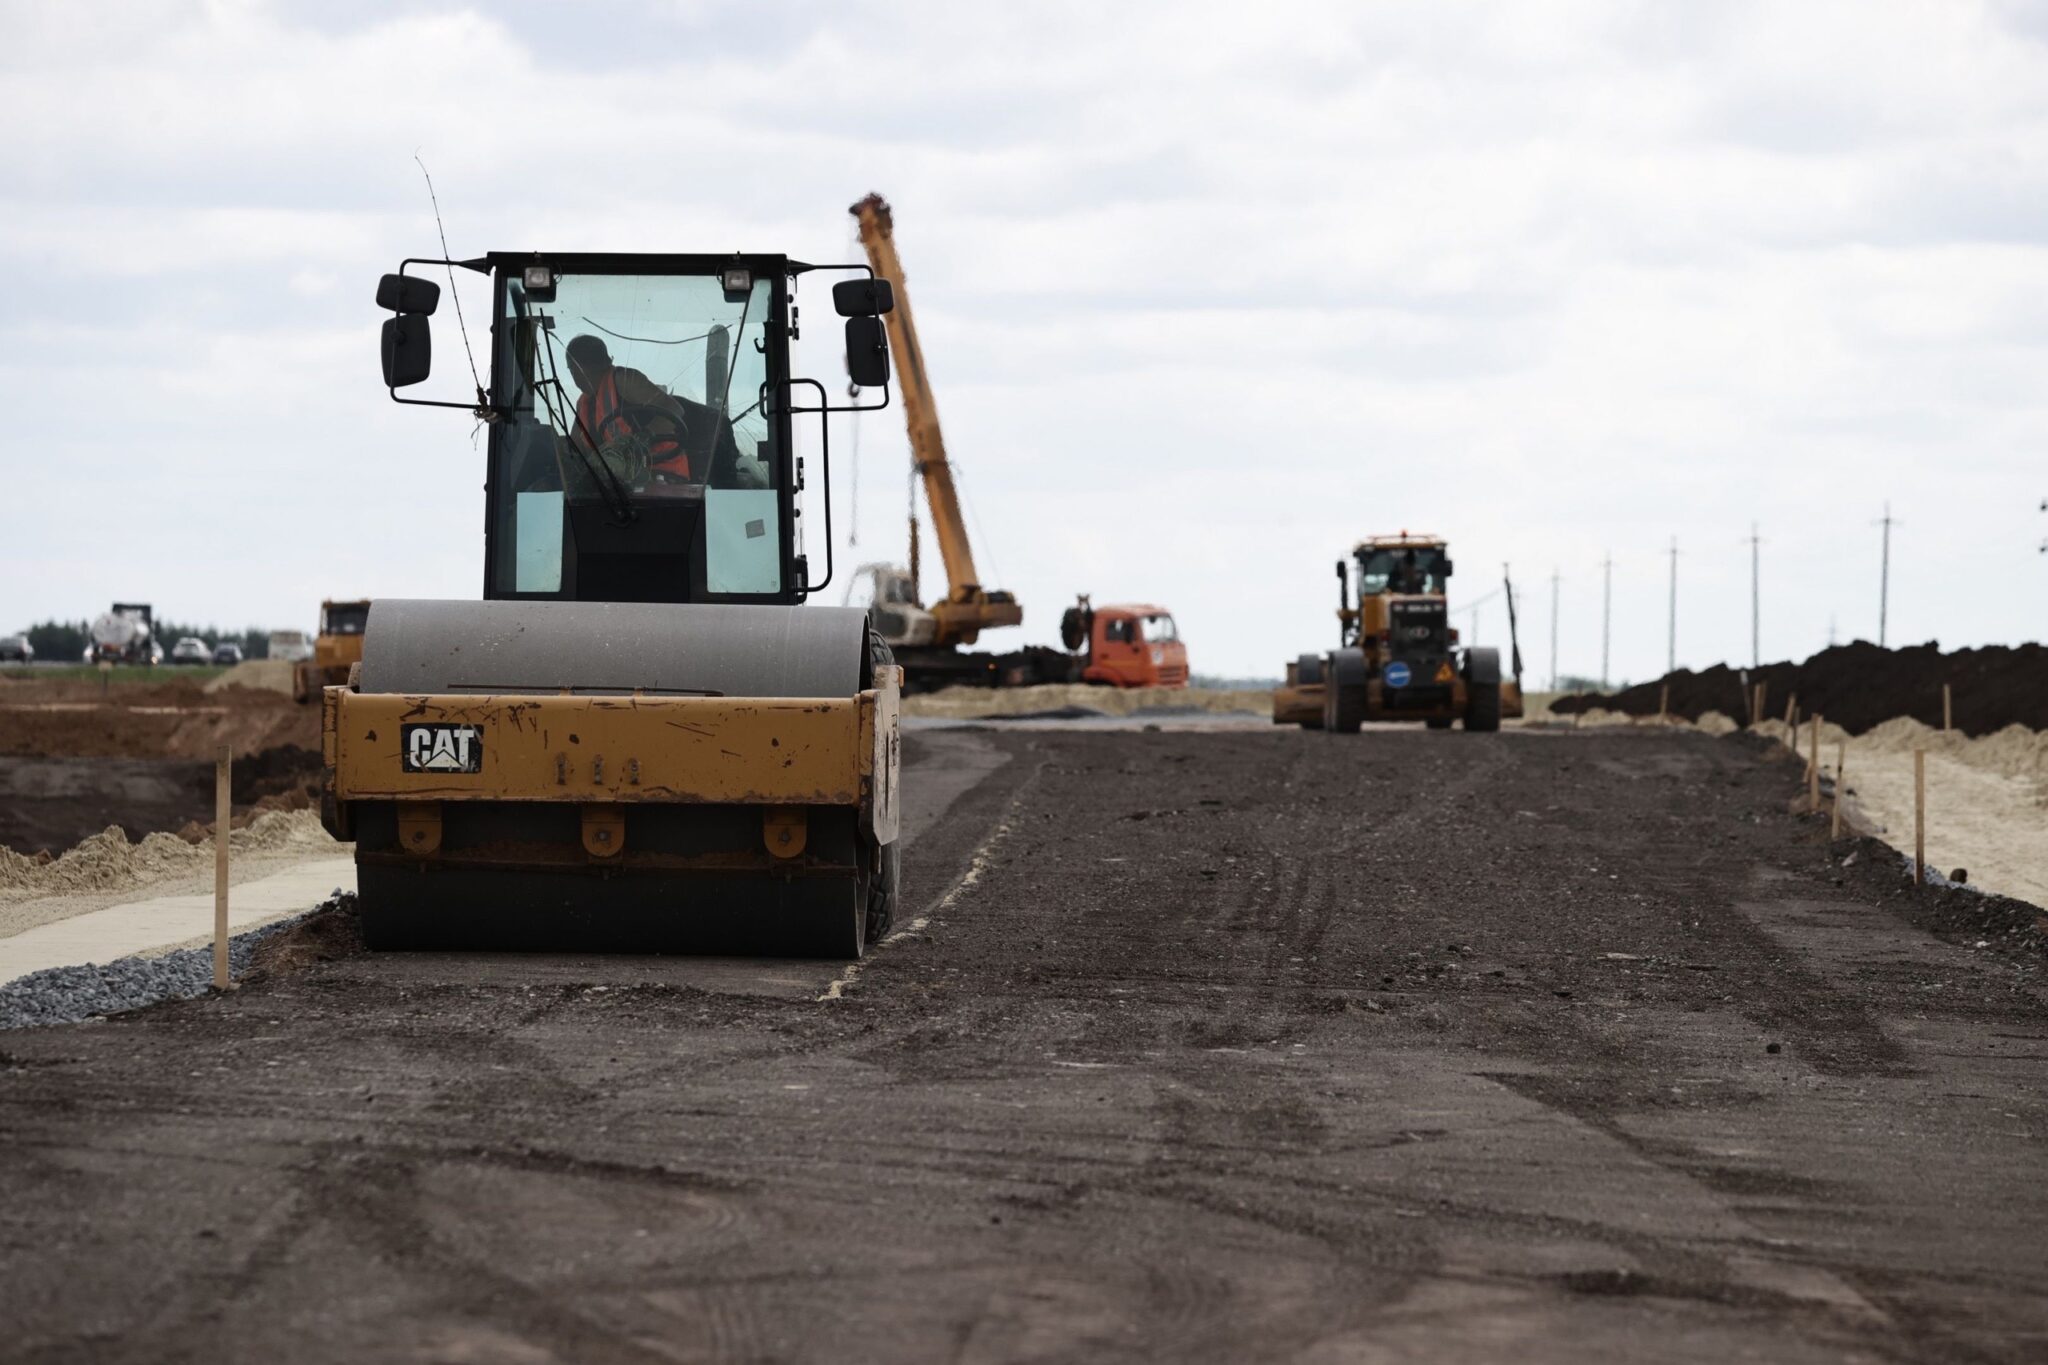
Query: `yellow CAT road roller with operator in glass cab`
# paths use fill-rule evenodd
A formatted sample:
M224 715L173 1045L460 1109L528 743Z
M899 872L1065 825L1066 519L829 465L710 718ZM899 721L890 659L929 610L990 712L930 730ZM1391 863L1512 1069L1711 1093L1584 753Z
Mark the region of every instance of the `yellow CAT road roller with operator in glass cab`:
M492 280L489 377L428 379L426 270ZM866 266L492 254L383 276L399 403L487 432L483 600L377 598L322 692L322 817L371 948L858 958L897 900L899 671L864 610L803 606L793 293L831 297L889 401ZM815 397L813 397L815 395ZM829 487L829 446L819 440ZM422 520L430 532L434 518Z

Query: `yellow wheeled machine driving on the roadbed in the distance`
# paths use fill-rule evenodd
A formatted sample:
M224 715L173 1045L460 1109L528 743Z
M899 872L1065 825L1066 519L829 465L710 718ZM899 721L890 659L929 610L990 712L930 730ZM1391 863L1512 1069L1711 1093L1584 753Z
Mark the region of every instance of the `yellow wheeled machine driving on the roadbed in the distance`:
M1421 720L1446 731L1497 731L1522 714L1501 651L1458 649L1446 587L1450 546L1438 536L1360 540L1337 561L1337 649L1300 655L1274 690L1274 724L1356 735L1366 720ZM1352 579L1356 571L1356 593Z

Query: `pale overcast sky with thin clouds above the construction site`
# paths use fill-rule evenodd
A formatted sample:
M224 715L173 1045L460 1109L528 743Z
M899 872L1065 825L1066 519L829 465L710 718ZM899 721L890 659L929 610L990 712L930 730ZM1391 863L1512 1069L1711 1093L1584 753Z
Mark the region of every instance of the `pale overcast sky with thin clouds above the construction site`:
M1610 551L1612 671L1663 671L1673 536L1679 663L1747 661L1757 522L1763 655L1804 657L1876 636L1886 499L1892 643L2048 618L2048 4L0 12L0 630L477 596L471 424L377 381L416 151L459 256L852 260L887 194L1014 645L1092 591L1274 675L1411 528L1454 610L1513 565L1536 681L1552 571L1599 671ZM842 567L903 555L901 413L858 508L854 440Z

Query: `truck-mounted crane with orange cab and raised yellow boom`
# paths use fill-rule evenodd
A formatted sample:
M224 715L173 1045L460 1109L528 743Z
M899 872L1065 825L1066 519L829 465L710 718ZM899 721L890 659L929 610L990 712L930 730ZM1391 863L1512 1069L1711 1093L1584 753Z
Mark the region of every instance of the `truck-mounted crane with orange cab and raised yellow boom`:
M887 280L895 309L887 315L889 342L903 375L903 422L909 428L911 463L932 508L932 532L946 567L946 596L920 604L918 512L909 518L909 567L862 565L870 585L877 628L905 669L907 688L944 686L1020 688L1030 684L1090 681L1122 688L1188 686L1188 647L1174 628L1171 614L1157 606L1092 606L1083 596L1061 620L1065 651L1026 645L1006 653L981 653L983 630L1018 626L1024 608L1001 589L983 585L975 551L967 540L967 518L946 460L946 438L938 430L938 403L918 344L918 323L903 282L903 262L895 250L895 215L889 201L868 194L848 213L860 227L868 268Z

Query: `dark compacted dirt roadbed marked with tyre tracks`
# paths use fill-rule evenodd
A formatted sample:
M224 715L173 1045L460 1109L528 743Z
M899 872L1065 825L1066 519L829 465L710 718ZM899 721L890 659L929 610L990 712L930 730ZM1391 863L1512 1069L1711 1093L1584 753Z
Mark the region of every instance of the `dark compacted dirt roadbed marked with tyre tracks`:
M2038 960L1749 743L907 749L985 776L840 999L348 956L0 1036L0 1357L2048 1357Z

